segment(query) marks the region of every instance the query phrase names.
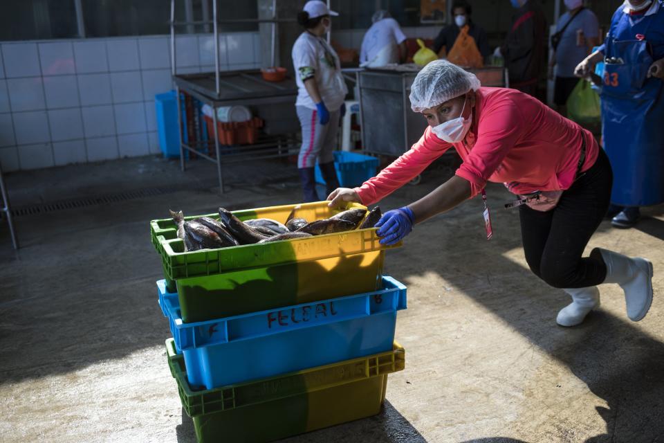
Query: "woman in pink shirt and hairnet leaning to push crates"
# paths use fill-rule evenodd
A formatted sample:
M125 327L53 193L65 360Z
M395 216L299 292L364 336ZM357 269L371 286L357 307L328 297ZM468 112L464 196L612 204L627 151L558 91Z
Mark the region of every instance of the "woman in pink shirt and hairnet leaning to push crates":
M559 325L578 325L599 306L600 283L620 284L631 320L647 314L652 303L648 260L601 248L582 257L607 212L613 179L607 156L590 132L525 93L481 87L472 73L444 60L418 73L410 101L429 122L422 138L359 188L332 192L331 206L374 204L454 147L463 159L454 177L422 199L385 213L376 224L381 243L394 244L414 224L484 195L487 181L504 183L519 196L512 205L519 206L528 266L572 298L557 316Z

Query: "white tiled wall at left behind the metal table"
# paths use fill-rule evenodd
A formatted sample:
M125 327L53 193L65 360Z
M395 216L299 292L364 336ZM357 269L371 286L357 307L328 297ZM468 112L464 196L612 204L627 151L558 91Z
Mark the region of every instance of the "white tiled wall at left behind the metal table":
M219 36L223 71L260 66L259 33ZM4 171L160 153L154 96L172 89L169 37L0 42ZM176 39L178 73L214 69L214 37Z

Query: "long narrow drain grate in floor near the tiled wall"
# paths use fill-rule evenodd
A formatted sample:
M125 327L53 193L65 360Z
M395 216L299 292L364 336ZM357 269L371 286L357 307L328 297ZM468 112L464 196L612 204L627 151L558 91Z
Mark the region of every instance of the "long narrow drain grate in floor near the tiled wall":
M187 188L187 190L202 190L203 186L196 188ZM80 199L66 199L52 201L50 203L32 204L24 206L15 206L12 208L14 217L22 215L39 215L53 213L57 210L87 208L89 206L98 206L102 204L117 203L118 201L127 201L133 199L142 199L144 197L155 197L157 195L172 194L173 192L183 190L182 185L161 186L157 188L144 188L140 190L131 190L118 192L116 194L100 195L98 197L82 197Z

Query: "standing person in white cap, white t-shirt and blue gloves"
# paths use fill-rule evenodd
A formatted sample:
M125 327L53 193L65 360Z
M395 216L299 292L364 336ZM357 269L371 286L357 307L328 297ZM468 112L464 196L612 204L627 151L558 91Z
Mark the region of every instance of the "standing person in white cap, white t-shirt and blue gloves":
M331 17L337 15L320 0L307 1L297 14L297 23L304 27L304 32L295 40L292 55L297 82L295 107L302 127L297 168L304 201L319 200L315 188L316 161L327 191L339 186L333 153L348 89L339 57L323 38L330 30Z

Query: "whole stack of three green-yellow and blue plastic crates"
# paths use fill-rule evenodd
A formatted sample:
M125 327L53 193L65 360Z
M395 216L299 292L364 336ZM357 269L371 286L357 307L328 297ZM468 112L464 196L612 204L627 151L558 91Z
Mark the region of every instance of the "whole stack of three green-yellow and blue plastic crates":
M338 212L234 214L284 223L293 211ZM268 442L380 412L387 374L405 364L394 329L406 288L382 276L375 228L191 252L172 219L151 221L151 234L168 361L199 442Z

